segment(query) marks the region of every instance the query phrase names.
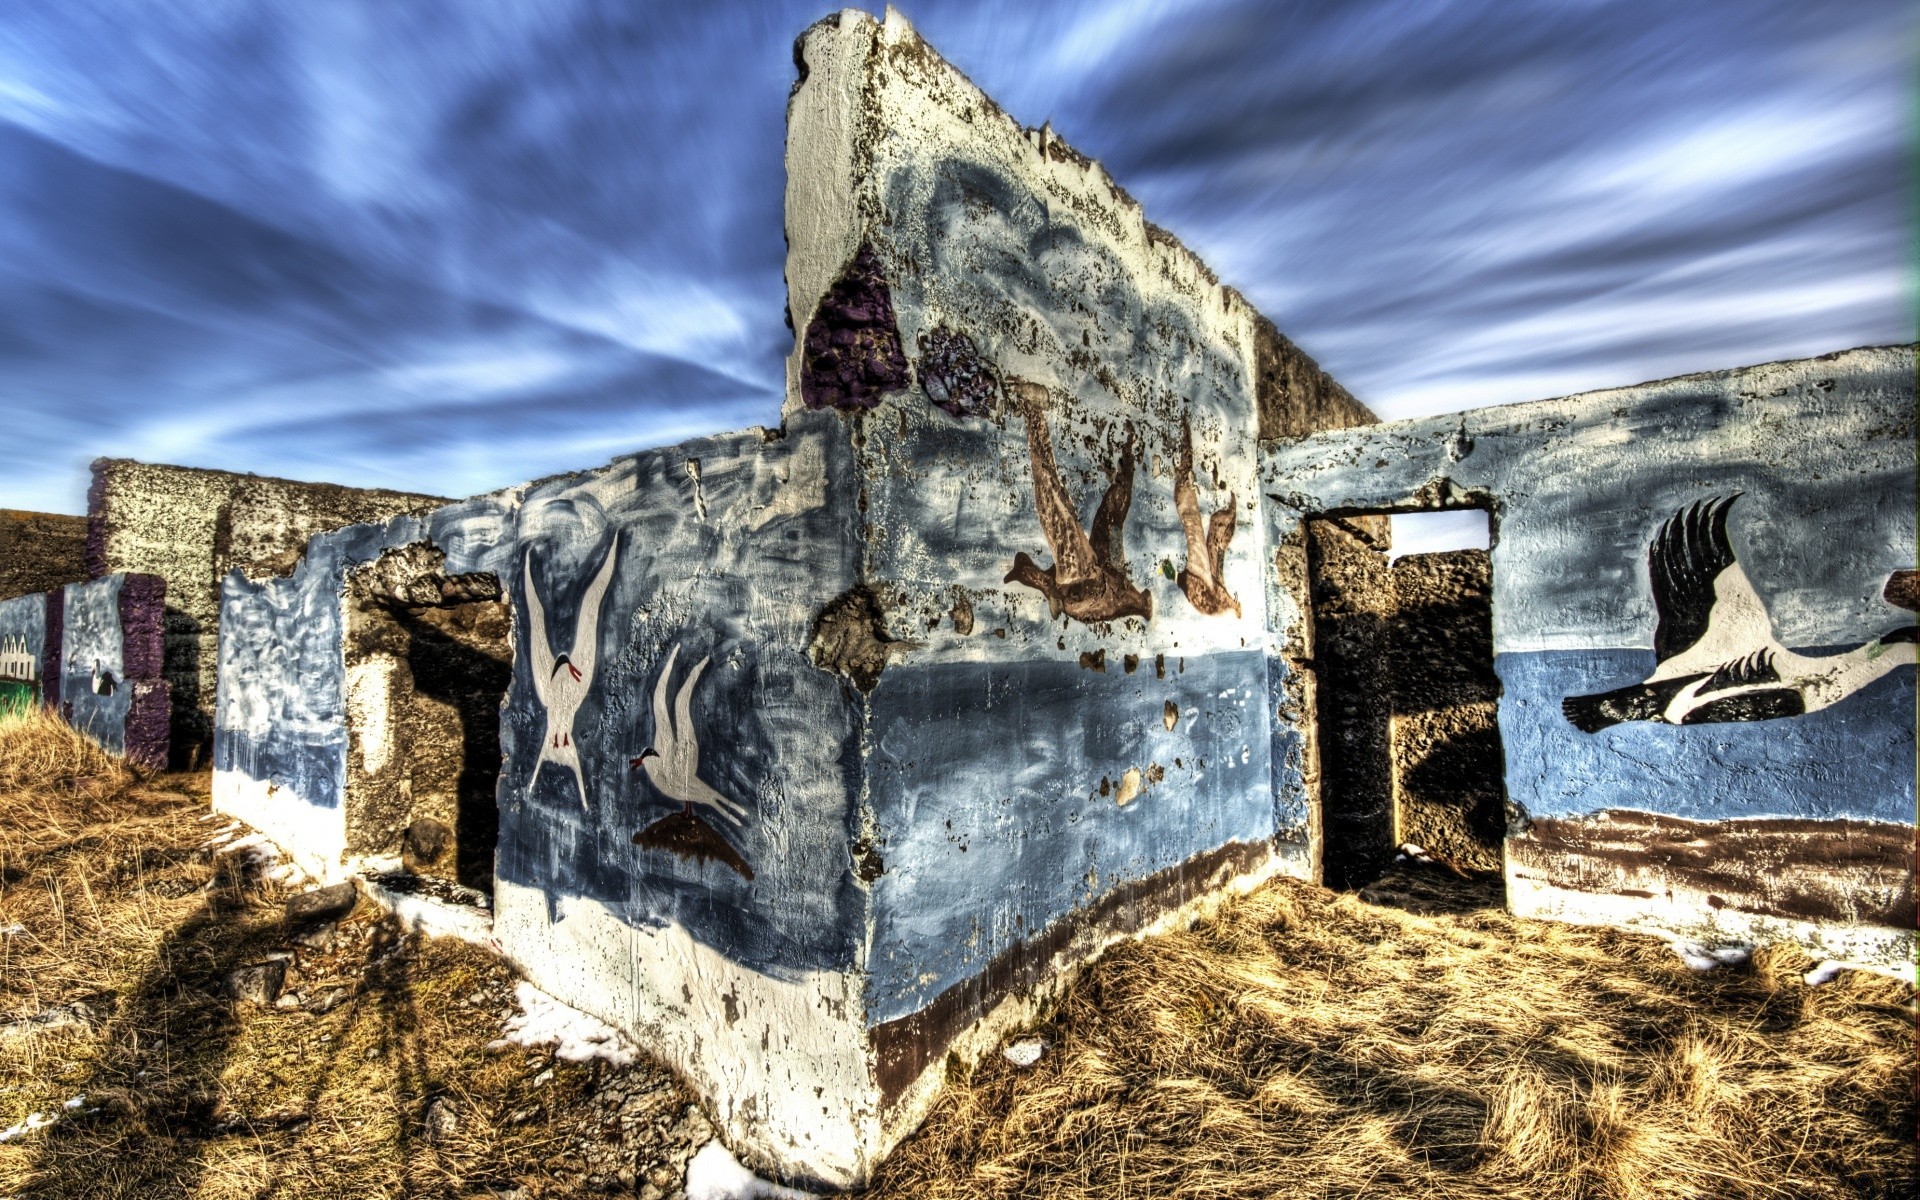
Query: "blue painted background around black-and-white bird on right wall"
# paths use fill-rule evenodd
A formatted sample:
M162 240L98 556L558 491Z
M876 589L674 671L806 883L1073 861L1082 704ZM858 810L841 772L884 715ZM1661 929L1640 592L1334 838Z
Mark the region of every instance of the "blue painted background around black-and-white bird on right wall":
M1647 676L1647 547L1716 495L1740 493L1728 541L1782 645L1837 653L1912 626L1882 597L1914 566L1912 348L1315 434L1261 472L1275 540L1306 513L1492 509L1500 728L1528 814L1912 824L1912 666L1793 718L1582 733L1561 712ZM1283 636L1300 611L1277 605Z

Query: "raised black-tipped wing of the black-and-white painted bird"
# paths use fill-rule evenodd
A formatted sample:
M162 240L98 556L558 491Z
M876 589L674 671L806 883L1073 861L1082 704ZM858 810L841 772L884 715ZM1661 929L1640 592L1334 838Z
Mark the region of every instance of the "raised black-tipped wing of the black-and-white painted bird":
M1740 493L1695 501L1674 513L1647 547L1647 576L1659 624L1649 676L1713 672L1757 649L1780 649L1772 620L1726 538L1726 513Z

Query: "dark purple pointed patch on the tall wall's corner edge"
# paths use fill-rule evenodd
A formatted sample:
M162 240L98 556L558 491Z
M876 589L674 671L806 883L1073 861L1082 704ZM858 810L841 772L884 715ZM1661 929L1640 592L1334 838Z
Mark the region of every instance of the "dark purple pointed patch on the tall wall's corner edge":
M801 351L801 399L808 409L858 413L906 386L906 353L893 323L893 292L872 246L852 255L820 300Z

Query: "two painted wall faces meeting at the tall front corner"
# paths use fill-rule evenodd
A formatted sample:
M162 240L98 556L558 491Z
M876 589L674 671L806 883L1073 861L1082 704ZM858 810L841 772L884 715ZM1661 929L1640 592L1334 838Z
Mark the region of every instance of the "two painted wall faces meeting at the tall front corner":
M751 1162L847 1185L1100 947L1308 870L1254 445L1369 415L899 17L799 60L783 430L230 572L215 803L313 870L392 858L432 722L367 601L486 576L495 935Z

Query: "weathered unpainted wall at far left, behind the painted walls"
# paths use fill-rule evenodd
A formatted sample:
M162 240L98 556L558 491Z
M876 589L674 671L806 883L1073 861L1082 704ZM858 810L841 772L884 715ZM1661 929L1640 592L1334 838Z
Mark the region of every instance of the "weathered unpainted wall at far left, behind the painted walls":
M86 493L86 574L167 580L167 664L179 766L213 733L221 578L284 574L307 540L445 503L407 492L300 484L227 470L98 459Z

